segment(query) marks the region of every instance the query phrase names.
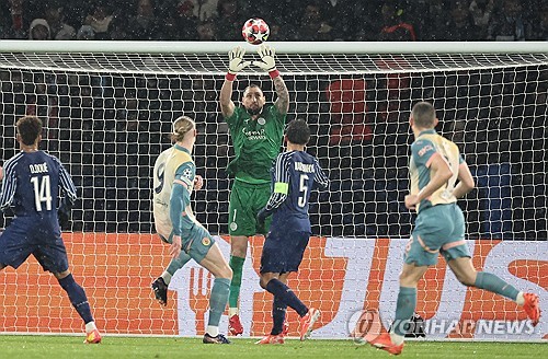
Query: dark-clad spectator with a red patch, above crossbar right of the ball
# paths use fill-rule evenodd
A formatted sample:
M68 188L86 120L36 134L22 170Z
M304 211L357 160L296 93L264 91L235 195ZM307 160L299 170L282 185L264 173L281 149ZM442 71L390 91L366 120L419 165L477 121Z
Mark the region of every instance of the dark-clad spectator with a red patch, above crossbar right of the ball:
M396 1L387 1L380 9L383 24L378 39L383 42L415 42L414 27L403 19L404 10Z

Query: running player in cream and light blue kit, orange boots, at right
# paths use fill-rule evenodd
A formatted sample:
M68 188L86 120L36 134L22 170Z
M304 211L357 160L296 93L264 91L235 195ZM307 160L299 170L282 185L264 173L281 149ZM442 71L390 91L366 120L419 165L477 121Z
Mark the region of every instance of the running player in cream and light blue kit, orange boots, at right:
M406 196L406 207L416 210L418 216L406 247L390 333L369 339L369 344L392 355L402 351L407 324L416 306L416 285L429 266L437 263L438 254L463 285L515 301L524 308L532 324L537 325L540 317L537 294L518 291L498 276L473 268L465 242L465 218L456 204L457 198L473 188L473 178L457 146L436 134L438 120L434 106L419 102L409 121L415 140L411 144L411 192Z

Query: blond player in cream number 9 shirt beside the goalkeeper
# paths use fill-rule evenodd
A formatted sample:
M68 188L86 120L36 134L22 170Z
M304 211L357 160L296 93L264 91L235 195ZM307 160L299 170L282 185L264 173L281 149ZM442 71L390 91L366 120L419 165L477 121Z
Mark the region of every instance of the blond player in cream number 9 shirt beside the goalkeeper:
M157 162L155 172L155 220L159 234L171 242L170 254L184 265L193 258L214 275L209 297L209 319L204 344L229 344L219 334L219 321L228 302L232 269L209 232L196 220L191 208L196 166L192 150L196 141L196 125L186 116L173 124L175 144ZM169 218L168 218L169 217ZM183 252L183 253L181 253Z

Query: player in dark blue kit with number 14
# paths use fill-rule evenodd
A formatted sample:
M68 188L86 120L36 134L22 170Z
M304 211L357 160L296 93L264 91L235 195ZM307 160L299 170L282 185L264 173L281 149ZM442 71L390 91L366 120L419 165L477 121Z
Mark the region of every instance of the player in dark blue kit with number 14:
M61 239L57 211L67 215L77 198L75 184L59 160L38 150L42 121L35 116L18 120L21 152L3 166L0 209L13 208L15 218L0 235L0 270L18 268L32 254L67 292L85 324L88 344L101 341L85 291L72 278ZM59 204L59 188L65 200Z

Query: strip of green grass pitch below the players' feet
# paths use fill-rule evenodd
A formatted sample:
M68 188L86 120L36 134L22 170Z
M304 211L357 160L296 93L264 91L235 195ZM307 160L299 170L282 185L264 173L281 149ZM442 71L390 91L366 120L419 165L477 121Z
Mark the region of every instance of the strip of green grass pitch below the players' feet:
M82 344L83 336L0 336L0 358L115 358L115 359L297 359L389 358L390 355L352 340L288 339L283 346L258 346L254 339L233 339L232 345L204 345L201 338L103 337L100 345ZM548 358L548 343L410 341L400 358Z

